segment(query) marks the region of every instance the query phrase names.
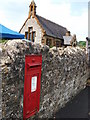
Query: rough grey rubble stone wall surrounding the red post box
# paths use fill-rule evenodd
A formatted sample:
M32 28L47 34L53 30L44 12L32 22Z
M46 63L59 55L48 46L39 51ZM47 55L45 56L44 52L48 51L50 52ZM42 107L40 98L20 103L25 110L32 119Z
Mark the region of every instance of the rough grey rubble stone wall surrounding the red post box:
M22 40L0 45L2 56L2 116L23 117L24 66L26 54L42 54L40 110L35 117L53 117L58 109L86 86L87 58L79 47L49 48Z

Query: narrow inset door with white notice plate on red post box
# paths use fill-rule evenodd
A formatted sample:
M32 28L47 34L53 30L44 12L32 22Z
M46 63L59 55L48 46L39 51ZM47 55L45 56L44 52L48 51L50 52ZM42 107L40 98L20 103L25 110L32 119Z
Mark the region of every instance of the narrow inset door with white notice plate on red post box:
M37 112L39 73L27 75L26 87L26 118Z

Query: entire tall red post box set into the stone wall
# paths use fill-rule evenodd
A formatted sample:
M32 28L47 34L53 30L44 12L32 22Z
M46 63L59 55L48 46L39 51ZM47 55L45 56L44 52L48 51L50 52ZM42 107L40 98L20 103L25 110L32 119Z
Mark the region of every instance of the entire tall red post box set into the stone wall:
M25 56L23 119L39 111L42 55Z

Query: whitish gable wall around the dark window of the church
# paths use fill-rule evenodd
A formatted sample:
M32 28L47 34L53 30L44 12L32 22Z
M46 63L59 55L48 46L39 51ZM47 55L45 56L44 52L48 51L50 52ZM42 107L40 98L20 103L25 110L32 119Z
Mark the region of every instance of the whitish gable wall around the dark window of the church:
M28 31L28 27L33 27L33 31L36 31L35 43L41 44L43 33L35 18L28 19L20 33L25 34L25 32Z

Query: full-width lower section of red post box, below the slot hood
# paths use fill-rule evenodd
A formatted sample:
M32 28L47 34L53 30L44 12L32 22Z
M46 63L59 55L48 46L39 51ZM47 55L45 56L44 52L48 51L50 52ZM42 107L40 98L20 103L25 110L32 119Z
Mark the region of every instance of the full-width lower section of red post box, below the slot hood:
M40 68L32 69L26 75L24 117L29 118L39 110L40 99Z

